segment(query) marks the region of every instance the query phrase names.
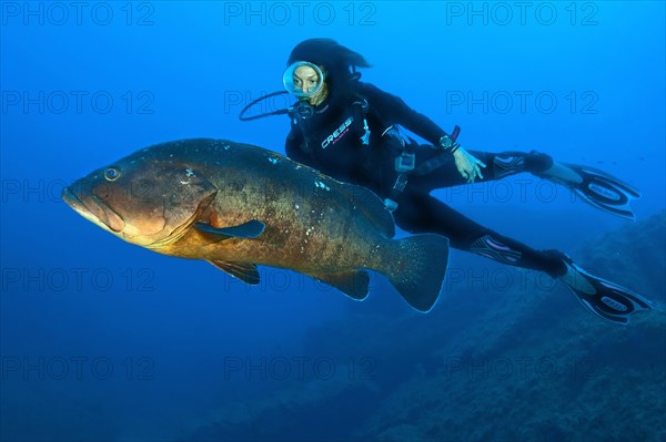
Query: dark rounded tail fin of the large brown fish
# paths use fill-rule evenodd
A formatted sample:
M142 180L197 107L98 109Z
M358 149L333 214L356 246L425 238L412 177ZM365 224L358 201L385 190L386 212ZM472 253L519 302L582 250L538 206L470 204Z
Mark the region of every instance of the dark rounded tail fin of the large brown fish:
M444 284L448 239L425 234L397 239L396 243L396 256L391 256L383 273L410 306L427 312L437 301Z

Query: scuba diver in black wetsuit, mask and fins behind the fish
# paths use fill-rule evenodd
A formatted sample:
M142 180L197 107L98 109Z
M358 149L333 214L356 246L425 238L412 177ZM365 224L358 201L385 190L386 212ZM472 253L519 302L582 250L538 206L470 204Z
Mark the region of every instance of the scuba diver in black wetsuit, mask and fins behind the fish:
M593 313L618 323L653 304L626 288L589 275L558 250L535 250L484 227L430 193L437 188L487 182L528 172L568 186L587 203L633 219L635 188L602 171L554 161L538 152L467 151L451 134L405 102L360 81L356 68L367 61L331 39L310 39L291 52L284 72L286 91L297 97L286 109L243 121L287 113L286 155L336 179L370 188L393 213L395 224L412 234L446 236L452 247L511 266L539 270L572 289ZM430 142L421 145L401 133L404 126Z

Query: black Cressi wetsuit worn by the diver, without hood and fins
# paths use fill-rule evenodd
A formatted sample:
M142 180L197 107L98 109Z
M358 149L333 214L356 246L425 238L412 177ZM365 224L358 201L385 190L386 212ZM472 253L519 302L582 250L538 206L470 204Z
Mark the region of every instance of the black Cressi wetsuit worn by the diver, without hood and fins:
M367 111L362 113L353 102L365 101ZM369 144L361 136L365 133L363 119L371 131ZM379 88L359 82L353 97L332 99L315 107L312 117L293 119L286 140L289 157L314 167L340 181L369 187L382 198L391 196L397 173L394 161L401 152L400 141L383 135L392 124L412 131L433 145L438 145L445 132L432 120L420 114L400 97ZM515 239L502 236L473 222L446 204L430 195L433 189L466 184L453 155L430 145L416 145L416 168L424 162L437 167L425 175L408 175L407 184L400 195L393 194L398 206L393 213L395 223L410 233L436 233L446 236L451 245L461 250L476 253L497 261L542 270L553 277L566 271L562 253L535 250ZM541 153L470 151L483 161L483 178L477 182L500 179L521 172L539 173L553 164L549 156Z

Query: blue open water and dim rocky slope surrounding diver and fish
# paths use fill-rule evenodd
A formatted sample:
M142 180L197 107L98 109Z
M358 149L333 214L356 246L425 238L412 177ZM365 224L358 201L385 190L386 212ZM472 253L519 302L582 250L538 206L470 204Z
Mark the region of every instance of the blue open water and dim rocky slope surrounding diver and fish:
M281 90L296 43L329 37L465 147L538 150L640 188L634 223L531 175L435 194L663 307L664 2L0 8L0 440L666 441L663 311L616 326L544 275L458 250L427 315L379 275L363 302L279 269L249 287L60 199L159 142L284 153L285 116L238 114Z

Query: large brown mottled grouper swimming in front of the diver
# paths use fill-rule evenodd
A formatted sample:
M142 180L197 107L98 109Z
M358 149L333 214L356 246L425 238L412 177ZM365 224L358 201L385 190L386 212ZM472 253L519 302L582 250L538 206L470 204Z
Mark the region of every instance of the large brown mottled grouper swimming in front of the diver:
M370 269L427 311L448 260L443 236L391 239L393 217L372 192L224 140L143 148L77 181L62 198L128 243L205 259L248 284L259 282L259 264L363 299Z

